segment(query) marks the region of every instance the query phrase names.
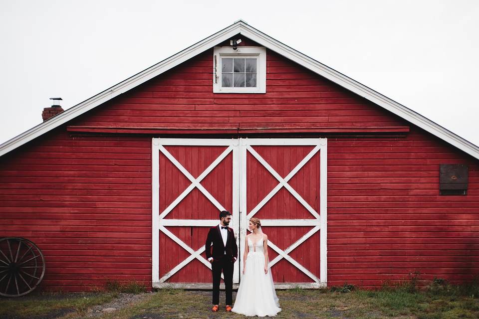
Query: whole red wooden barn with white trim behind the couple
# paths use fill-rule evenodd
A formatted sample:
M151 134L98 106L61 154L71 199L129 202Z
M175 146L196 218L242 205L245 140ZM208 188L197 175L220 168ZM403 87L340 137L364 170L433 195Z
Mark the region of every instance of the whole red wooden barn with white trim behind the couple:
M479 274L479 148L243 21L0 156L0 236L37 244L48 290L209 287L223 209L240 251L262 220L280 288Z

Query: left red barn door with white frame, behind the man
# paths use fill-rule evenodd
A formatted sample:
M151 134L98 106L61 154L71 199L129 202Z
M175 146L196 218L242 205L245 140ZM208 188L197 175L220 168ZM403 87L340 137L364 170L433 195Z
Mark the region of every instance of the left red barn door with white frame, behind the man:
M153 139L152 285L211 286L205 258L219 212L233 213L239 231L238 139ZM234 283L239 282L238 261Z

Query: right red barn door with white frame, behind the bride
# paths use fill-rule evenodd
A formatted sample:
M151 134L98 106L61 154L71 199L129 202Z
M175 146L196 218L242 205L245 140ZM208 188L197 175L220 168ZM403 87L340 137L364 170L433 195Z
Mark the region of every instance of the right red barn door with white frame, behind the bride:
M326 286L326 139L241 139L240 148L240 251L257 217L276 287Z

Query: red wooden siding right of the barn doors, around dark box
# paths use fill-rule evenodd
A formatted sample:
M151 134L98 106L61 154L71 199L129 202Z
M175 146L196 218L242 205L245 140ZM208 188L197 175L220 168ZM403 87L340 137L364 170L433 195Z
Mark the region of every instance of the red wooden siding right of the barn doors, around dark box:
M469 164L467 196L439 195L439 164ZM328 285L479 275L478 161L415 129L328 140Z

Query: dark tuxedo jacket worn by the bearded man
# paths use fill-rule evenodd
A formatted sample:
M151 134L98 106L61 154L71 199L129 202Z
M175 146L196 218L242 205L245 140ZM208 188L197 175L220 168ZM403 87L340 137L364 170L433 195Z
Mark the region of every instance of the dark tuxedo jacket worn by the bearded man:
M211 246L212 243L213 246ZM232 261L234 261L234 258L238 258L238 246L236 245L233 229L228 227L228 238L225 247L221 237L220 225L211 227L206 238L205 251L207 259L213 257L214 260L220 260L225 255L225 252L226 256Z

